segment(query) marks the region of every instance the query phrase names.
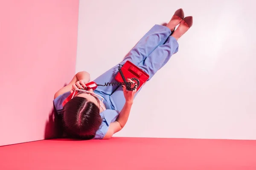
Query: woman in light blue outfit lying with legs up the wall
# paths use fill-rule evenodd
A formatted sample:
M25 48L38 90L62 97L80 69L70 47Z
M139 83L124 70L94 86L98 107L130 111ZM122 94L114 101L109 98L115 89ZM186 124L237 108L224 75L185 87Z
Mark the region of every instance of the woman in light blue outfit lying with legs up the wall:
M192 17L184 18L183 10L178 9L166 26L153 26L121 63L93 82L101 85L116 82L119 64L123 65L128 60L148 74L150 80L177 53L177 40L191 26ZM68 137L110 139L125 126L134 97L141 88L137 91L136 82L128 79L128 82L133 82L132 91L124 85L99 86L93 91L87 89L85 84L88 82L90 75L86 71L77 73L67 86L55 93L55 111L62 116L64 132Z

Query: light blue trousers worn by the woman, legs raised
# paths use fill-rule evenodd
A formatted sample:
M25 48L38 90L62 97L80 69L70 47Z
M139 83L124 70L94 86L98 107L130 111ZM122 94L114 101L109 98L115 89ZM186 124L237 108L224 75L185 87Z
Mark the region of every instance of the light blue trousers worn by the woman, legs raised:
M150 80L154 74L162 68L170 57L177 53L178 42L170 36L171 30L166 26L153 26L134 46L125 59L106 71L94 80L97 84L104 85L105 82L116 82L119 64L123 65L127 60L131 61L149 75ZM142 89L141 87L135 96ZM121 111L125 104L122 86L98 86L94 91L104 97L107 109Z

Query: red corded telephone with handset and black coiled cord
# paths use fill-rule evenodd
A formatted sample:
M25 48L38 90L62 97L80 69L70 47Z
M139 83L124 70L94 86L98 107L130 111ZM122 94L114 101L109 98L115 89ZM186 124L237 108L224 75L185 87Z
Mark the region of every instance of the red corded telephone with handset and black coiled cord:
M137 82L137 91L141 88L141 86L148 80L149 75L146 74L142 69L138 68L136 65L134 65L130 61L126 61L122 67L119 66L118 68L119 72L116 75L115 79L117 82L105 82L105 85L100 86L108 86L108 85L125 85L128 90L132 90L130 88L131 83L127 82L126 80L129 78L131 80L135 80ZM96 84L96 82L88 82L85 84L87 89L93 89L95 90L99 85ZM73 92L75 93L75 92ZM62 103L64 106L73 96L73 93L70 94Z

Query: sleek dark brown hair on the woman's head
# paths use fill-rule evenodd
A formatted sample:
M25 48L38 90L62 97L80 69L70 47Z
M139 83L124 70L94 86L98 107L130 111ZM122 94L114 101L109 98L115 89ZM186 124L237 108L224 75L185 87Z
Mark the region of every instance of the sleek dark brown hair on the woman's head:
M63 108L64 130L67 136L93 139L102 123L99 107L84 97L74 97Z

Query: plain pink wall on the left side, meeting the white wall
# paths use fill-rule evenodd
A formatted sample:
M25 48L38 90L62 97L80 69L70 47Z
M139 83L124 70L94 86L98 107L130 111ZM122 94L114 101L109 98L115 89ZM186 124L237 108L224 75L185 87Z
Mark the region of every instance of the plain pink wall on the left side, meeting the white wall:
M75 74L79 0L0 5L0 145L54 137L52 100Z

